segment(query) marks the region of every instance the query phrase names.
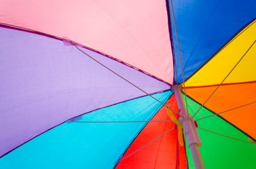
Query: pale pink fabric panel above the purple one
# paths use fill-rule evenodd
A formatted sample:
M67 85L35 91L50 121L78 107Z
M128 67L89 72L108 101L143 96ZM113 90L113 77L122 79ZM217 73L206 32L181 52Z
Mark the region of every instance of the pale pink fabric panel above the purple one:
M68 37L173 81L164 0L0 0L0 11L0 23Z

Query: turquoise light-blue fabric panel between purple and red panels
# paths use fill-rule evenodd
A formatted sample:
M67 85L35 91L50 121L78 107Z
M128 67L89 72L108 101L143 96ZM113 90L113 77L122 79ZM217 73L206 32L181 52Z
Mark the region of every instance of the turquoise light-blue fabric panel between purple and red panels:
M161 102L171 91L153 95ZM149 120L162 105L149 96L102 108L79 121ZM64 122L0 158L1 168L113 168L144 122Z

